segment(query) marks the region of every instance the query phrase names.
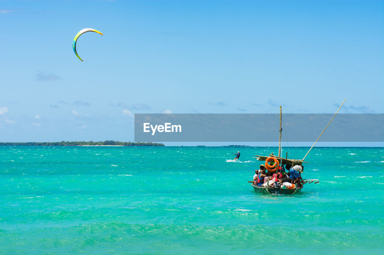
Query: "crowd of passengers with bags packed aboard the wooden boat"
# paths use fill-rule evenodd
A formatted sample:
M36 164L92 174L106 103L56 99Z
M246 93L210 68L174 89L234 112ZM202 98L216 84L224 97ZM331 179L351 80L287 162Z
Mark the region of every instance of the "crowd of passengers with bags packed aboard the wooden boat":
M288 172L285 172L285 169ZM280 165L276 172L269 172L266 170L265 165L260 165L260 169L255 170L255 175L253 175L253 182L257 186L273 186L276 182L280 185L285 186L289 189L294 189L296 186L298 188L302 187L303 178L301 178L301 173L304 171L304 166L301 165Z

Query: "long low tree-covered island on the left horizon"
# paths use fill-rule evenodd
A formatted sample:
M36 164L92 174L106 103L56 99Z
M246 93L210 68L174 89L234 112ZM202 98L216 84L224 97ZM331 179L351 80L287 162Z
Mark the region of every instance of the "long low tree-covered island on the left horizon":
M107 140L104 142L0 142L0 146L164 146L156 142L119 142Z

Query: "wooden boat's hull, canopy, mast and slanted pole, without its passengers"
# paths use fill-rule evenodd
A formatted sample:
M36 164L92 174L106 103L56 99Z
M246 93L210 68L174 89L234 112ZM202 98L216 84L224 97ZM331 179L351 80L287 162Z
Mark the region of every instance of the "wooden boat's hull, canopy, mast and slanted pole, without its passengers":
M345 102L345 100L344 100ZM344 102L341 104L341 106L344 104ZM339 110L341 108L341 106L339 107ZM336 114L338 113L338 111L336 111L336 113L334 114L334 116L336 116ZM334 118L333 116L333 118ZM332 119L333 119L332 118ZM331 121L332 121L331 119ZM331 123L331 121L329 121L328 125ZM323 132L325 131L325 129L328 127L328 125L324 128ZM303 159L288 159L288 152L286 154L286 157L283 158L281 157L281 131L283 129L281 128L281 106L280 106L280 129L279 129L279 152L278 152L278 156L276 155L273 155L273 152L271 154L269 154L269 156L260 156L260 155L256 155L255 159L259 160L259 161L264 161L265 163L266 162L266 159L268 157L274 157L276 160L278 160L278 162L283 165L291 165L291 167L295 166L295 165L302 165L303 163L308 163L308 162L305 162L304 159L305 157L308 155L308 153L311 151L311 149L313 148L313 146L316 144L316 142L319 140L320 136L323 134L323 132L321 132L319 138L316 140L316 142L314 142L314 144L312 145L311 149L308 150L307 154L304 156ZM296 185L296 187L294 189L288 189L288 188L285 188L284 185L280 184L280 183L277 183L275 182L273 185L268 185L266 187L264 186L258 186L256 183L254 183L253 181L248 181L250 183L252 183L252 187L253 189L255 190L255 192L257 193L262 193L262 194L270 194L270 195L293 195L293 194L296 194L298 192L300 192L303 188L303 186L307 183L319 183L319 180L317 179L303 179L303 181L301 182L301 185Z

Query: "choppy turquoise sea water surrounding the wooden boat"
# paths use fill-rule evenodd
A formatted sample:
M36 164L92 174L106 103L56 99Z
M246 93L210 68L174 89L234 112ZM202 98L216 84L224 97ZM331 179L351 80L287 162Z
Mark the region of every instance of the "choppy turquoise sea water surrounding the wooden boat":
M320 182L277 197L247 182L256 154L0 147L0 254L382 254L383 148L314 148L303 178Z

